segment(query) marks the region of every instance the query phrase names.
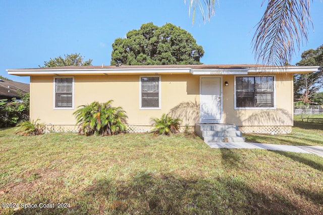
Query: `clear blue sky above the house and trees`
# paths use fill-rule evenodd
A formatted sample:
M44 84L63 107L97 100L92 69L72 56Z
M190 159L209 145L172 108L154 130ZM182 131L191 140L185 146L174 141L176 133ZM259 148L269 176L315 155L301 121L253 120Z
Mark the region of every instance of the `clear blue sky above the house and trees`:
M29 77L8 75L6 69L37 68L67 53L81 53L92 65L110 65L112 43L143 23L172 23L190 32L205 51L204 64L253 64L251 40L265 6L262 0L220 0L216 16L194 25L184 0L145 1L18 1L0 0L0 75L29 83ZM295 53L323 44L323 3L311 4L314 25L308 43Z

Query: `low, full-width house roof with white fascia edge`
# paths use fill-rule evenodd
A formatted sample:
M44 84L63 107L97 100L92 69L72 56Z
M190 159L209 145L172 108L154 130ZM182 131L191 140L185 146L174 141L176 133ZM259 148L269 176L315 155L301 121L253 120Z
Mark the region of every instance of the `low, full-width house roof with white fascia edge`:
M30 69L8 69L8 73L18 76L34 75L113 75L113 74L193 74L193 75L233 75L252 73L310 73L318 67L264 66L255 64L235 65L117 65L45 67Z

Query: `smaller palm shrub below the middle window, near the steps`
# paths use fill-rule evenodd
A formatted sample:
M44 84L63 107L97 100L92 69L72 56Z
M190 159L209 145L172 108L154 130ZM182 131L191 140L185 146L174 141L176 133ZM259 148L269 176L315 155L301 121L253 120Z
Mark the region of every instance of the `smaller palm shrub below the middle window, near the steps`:
M153 126L152 132L155 134L172 135L179 132L181 121L180 119L173 119L168 114L163 114L160 119L152 118Z

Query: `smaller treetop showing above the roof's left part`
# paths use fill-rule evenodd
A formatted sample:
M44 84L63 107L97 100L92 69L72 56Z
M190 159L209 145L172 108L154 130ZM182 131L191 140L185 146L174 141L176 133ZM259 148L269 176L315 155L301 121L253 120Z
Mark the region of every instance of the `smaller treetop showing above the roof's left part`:
M92 60L83 61L83 57L80 53L71 53L70 55L64 55L44 62L43 67L67 67L67 66L92 66ZM39 66L40 67L40 66Z

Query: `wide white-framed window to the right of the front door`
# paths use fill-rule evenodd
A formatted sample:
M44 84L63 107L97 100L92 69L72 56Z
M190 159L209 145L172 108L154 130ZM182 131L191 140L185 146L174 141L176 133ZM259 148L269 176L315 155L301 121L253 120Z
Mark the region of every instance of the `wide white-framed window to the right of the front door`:
M274 77L236 77L236 108L274 108Z

